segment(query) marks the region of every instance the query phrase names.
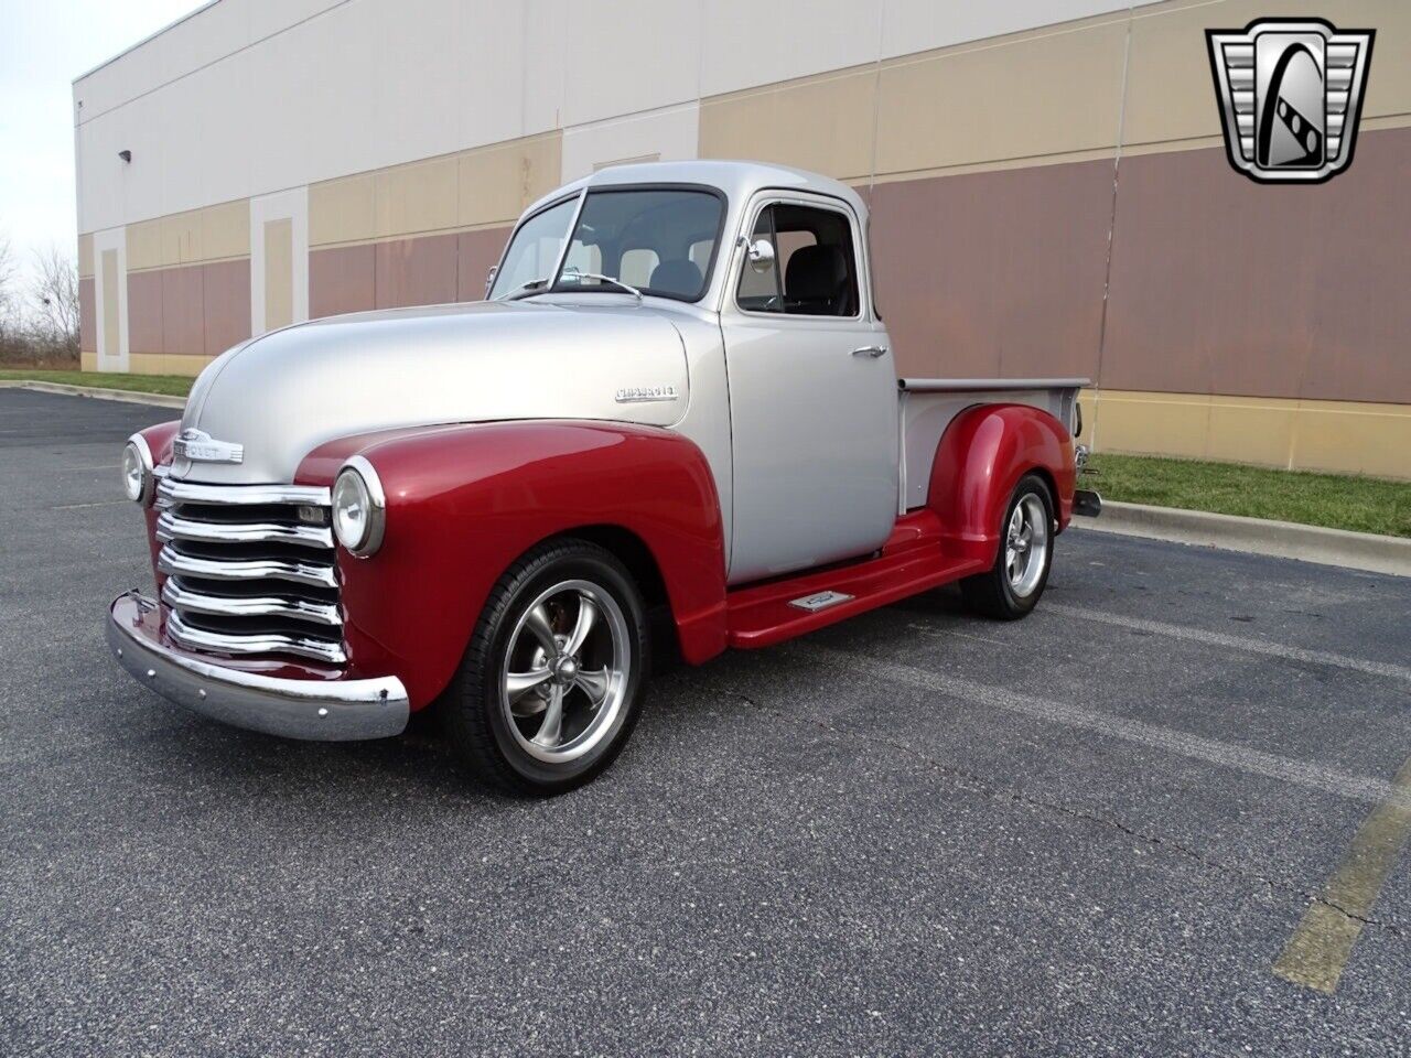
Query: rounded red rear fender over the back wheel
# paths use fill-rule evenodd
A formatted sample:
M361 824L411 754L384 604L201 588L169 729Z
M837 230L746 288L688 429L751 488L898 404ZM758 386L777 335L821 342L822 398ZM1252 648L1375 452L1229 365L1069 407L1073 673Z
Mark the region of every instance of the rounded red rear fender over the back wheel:
M991 566L1005 506L1030 471L1047 478L1058 528L1067 528L1077 470L1064 425L1020 403L976 405L955 416L937 447L927 497L947 550Z

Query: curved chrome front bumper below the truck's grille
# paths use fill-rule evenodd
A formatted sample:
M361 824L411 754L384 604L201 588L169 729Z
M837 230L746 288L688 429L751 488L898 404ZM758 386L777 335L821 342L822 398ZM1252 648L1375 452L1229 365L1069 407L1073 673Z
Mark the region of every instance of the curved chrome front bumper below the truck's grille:
M135 591L113 600L107 645L133 677L164 698L223 724L284 738L347 742L387 738L406 726L402 681L288 680L224 669L166 646L155 600Z

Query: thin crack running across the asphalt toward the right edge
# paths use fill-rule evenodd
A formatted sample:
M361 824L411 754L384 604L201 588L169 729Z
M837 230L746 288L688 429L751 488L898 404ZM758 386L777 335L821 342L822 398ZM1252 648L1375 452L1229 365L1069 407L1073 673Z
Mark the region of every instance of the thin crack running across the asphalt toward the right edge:
M1261 875L1257 870L1252 872L1240 865L1233 865L1222 859L1215 859L1212 856L1205 855L1204 852L1191 848L1189 845L1185 845L1173 838L1163 837L1160 834L1151 834L1149 831L1140 829L1127 822L1123 822L1116 817L1103 815L1099 813L1088 811L1085 808L1075 808L1071 804L1064 804L1062 801L1055 801L1047 797L1036 797L1034 794L1029 794L1022 790L1015 790L1012 787L993 783L985 779L983 776L978 774L976 772L969 772L964 767L957 767L955 765L945 763L944 760L940 760L931 756L930 753L917 749L916 746L909 745L906 742L899 742L896 739L889 739L889 738L880 738L855 729L840 728L838 725L830 724L828 721L814 715L799 715L796 712L782 710L779 707L759 701L753 695L745 694L744 691L732 686L717 684L717 690L724 691L725 694L729 694L734 698L738 698L745 705L749 705L758 712L768 714L769 717L782 719L787 724L794 724L797 726L813 726L835 738L852 739L856 742L865 742L872 746L906 753L920 760L930 770L950 777L957 783L957 786L961 786L962 789L969 789L972 793L978 793L985 797L996 797L1007 800L1013 804L1037 808L1040 811L1051 813L1055 815L1062 815L1068 820L1086 822L1089 825L1115 829L1134 841L1144 842L1147 845L1151 845L1153 848L1165 849L1167 852L1188 859L1192 863L1198 863L1199 866L1208 870L1228 875L1245 883L1254 882L1257 884L1264 886L1273 893L1280 893L1291 897L1298 897L1311 903L1324 904L1325 907L1336 911L1338 914L1346 916L1352 921L1360 923L1363 925L1374 925L1381 930L1387 930L1395 937L1411 937L1411 931L1405 930L1397 923L1391 923L1384 918L1370 918L1360 916L1356 911L1352 911L1338 904L1336 901L1329 900L1321 892L1302 889L1283 879L1270 877L1267 875Z

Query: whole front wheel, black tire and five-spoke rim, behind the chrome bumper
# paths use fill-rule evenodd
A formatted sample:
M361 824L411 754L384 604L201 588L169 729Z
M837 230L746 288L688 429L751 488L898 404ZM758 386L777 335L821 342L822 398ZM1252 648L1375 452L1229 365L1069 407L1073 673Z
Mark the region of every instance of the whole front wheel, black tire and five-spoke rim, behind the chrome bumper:
M447 725L476 773L556 794L621 752L646 680L642 595L610 552L535 549L499 578L447 694Z

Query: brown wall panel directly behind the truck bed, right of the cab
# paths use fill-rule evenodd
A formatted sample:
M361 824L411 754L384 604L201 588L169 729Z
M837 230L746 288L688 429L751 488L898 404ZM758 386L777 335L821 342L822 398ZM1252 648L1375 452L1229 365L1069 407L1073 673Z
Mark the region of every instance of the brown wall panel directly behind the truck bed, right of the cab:
M903 375L1091 375L1112 162L879 183L878 305Z

